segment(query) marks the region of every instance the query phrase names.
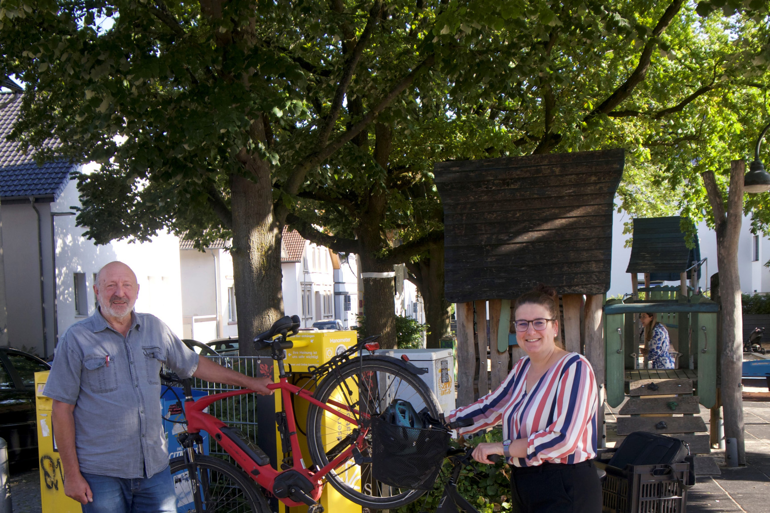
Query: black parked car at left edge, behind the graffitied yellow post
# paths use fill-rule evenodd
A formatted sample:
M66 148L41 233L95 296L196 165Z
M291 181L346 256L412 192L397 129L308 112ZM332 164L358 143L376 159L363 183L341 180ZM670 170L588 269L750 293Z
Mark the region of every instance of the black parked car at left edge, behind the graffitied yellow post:
M37 466L38 431L35 372L51 365L12 348L0 348L0 438L8 442L11 470Z

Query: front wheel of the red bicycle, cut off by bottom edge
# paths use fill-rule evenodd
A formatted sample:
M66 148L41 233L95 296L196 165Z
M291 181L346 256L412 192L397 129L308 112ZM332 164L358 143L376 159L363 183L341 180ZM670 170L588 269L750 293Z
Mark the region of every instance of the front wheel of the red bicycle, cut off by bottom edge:
M192 499L192 485L189 482L189 471L185 458L174 458L170 462L171 475L176 490L177 508L186 513L272 513L266 498L241 469L213 456L196 455L196 479L199 490L203 490L204 511L196 511ZM205 473L209 481L208 487L200 485L200 476ZM208 488L207 490L204 488ZM189 509L182 510L184 505Z

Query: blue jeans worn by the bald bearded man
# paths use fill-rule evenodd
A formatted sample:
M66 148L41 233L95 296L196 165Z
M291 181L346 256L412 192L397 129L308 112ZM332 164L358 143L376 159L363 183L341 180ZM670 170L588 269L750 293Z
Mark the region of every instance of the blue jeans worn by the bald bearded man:
M113 478L82 473L94 501L83 513L176 513L176 492L168 467L149 478Z

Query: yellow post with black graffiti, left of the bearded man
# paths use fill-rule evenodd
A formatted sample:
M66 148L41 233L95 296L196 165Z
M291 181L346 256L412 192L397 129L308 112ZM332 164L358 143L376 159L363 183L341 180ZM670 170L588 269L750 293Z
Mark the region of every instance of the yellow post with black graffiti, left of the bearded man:
M50 371L35 372L38 455L40 458L40 501L42 513L81 513L80 503L64 495L64 471L53 438L53 400L43 395Z

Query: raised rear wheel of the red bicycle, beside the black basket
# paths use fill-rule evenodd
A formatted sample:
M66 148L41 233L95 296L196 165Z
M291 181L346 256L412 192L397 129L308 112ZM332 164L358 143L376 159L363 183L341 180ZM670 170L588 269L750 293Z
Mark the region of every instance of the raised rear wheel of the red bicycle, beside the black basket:
M393 399L409 401L416 411L427 408L434 418L441 412L436 396L419 376L384 358L356 359L341 365L326 375L313 397L340 415L355 418L364 428L370 425L368 419L380 415ZM335 407L329 401L344 407ZM354 428L323 408L313 404L308 407L307 445L315 465L323 468L351 445L357 445L361 453L358 462L351 457L326 474L330 485L350 501L372 509L398 508L425 493L395 488L374 479L370 463L371 434L358 445Z

